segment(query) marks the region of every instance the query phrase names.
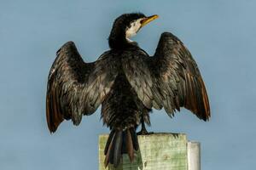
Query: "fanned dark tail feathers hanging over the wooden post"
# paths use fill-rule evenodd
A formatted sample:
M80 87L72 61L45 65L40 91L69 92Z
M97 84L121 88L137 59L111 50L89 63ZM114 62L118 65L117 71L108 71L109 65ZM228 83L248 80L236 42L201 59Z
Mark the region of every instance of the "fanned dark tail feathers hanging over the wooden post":
M105 167L108 163L118 167L122 154L128 154L130 161L134 160L134 150L138 150L137 133L133 127L122 130L112 130L105 146Z

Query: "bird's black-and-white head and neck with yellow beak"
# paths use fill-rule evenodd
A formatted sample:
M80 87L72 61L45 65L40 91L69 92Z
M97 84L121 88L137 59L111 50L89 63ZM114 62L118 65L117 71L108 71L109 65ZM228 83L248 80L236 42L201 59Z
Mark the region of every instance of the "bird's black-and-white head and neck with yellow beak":
M110 48L126 48L136 44L130 40L137 32L158 15L145 16L142 13L122 14L113 22L113 27L108 37Z

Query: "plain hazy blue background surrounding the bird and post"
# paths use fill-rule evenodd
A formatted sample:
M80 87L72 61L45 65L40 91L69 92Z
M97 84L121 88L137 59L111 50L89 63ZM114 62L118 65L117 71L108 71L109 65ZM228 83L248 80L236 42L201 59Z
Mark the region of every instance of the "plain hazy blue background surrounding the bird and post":
M45 94L55 52L72 40L87 62L108 50L120 14L159 14L134 37L154 54L160 34L179 37L200 67L212 117L182 110L150 115L154 132L187 133L201 142L201 169L256 167L256 2L253 0L1 0L0 169L98 169L100 109L79 127L62 122L50 134Z

